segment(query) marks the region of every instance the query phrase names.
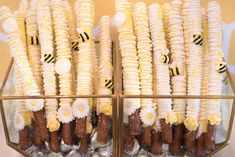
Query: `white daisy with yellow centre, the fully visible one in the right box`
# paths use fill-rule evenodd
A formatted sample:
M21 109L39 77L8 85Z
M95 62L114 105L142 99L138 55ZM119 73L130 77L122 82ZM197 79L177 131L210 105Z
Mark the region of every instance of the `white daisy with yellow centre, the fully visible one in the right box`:
M140 111L140 118L144 125L146 126L151 126L155 123L156 121L156 111L155 109L149 107L149 108L144 108Z

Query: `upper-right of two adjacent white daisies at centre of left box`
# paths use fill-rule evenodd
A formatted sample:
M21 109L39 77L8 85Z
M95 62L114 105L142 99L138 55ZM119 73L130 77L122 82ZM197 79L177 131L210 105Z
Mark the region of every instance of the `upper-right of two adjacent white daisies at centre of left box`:
M89 114L88 99L77 99L73 103L73 115L77 118L84 118Z

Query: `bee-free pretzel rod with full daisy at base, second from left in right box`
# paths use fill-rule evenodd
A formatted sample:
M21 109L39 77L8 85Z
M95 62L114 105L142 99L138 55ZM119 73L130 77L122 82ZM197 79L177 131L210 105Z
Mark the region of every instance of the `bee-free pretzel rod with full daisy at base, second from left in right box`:
M137 37L137 52L139 57L141 94L153 94L152 44L149 34L147 7L144 2L134 5L133 19ZM152 99L142 99L140 119L143 123L141 143L143 147L151 146L151 126L156 120L156 107Z

